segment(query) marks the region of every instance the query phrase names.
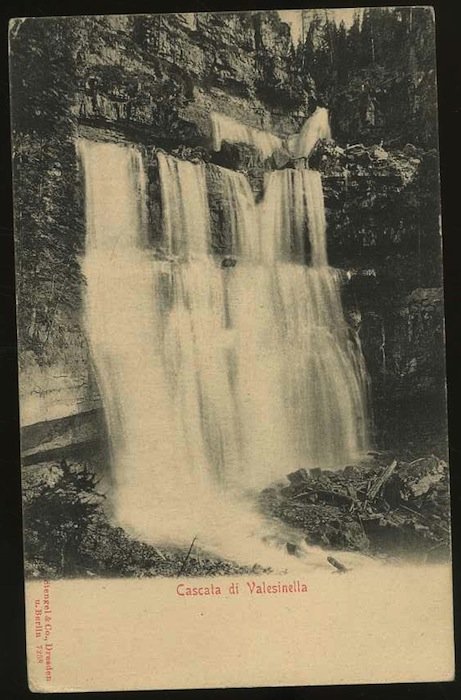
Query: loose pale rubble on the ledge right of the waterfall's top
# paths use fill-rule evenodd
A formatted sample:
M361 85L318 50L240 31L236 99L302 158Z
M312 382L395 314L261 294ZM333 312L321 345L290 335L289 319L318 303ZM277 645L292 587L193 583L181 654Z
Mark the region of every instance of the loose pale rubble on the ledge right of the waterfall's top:
M358 143L343 148L334 141L321 140L309 165L330 177L367 176L372 172L374 176L395 177L405 185L416 176L423 157L423 151L412 144L391 151L377 144Z

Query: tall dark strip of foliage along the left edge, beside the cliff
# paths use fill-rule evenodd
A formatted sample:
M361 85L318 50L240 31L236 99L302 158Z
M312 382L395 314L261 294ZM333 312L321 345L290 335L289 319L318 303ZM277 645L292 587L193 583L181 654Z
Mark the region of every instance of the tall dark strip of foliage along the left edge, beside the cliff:
M26 19L10 41L19 344L40 357L80 289L73 25Z

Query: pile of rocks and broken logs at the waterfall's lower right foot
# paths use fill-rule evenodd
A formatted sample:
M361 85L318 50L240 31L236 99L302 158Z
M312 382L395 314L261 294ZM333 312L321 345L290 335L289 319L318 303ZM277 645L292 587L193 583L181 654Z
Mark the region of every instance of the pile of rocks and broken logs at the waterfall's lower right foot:
M373 453L338 471L299 469L260 495L265 514L328 549L437 561L449 556L448 466Z

